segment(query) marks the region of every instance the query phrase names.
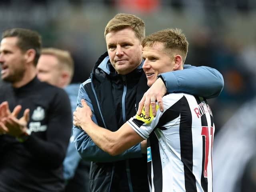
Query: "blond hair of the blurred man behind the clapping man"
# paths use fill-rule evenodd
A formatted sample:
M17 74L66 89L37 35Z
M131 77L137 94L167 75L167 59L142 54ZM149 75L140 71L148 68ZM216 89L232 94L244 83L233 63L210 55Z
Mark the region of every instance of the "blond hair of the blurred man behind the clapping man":
M60 68L70 72L70 80L68 84L71 82L74 75L74 60L69 51L57 48L42 48L41 55L55 56L59 61Z

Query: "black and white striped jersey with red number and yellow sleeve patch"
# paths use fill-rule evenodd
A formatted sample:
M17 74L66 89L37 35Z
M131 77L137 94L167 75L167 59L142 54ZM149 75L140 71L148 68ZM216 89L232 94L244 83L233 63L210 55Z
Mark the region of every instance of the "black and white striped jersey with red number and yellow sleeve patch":
M189 94L163 97L164 112L144 112L128 124L148 139L148 176L153 192L212 192L214 122L207 101Z

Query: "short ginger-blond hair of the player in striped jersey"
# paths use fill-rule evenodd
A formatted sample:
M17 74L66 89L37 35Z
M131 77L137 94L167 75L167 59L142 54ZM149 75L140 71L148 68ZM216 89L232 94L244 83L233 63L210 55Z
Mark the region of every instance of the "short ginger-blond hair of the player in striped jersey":
M184 64L188 53L188 41L181 29L164 29L152 33L144 38L142 46L152 47L157 42L164 44L164 51L171 57L173 54L179 54Z

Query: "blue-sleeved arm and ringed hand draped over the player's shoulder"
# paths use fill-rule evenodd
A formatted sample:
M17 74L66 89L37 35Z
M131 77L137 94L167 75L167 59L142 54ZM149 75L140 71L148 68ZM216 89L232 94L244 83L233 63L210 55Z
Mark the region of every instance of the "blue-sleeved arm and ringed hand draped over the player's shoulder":
M162 97L166 92L184 92L192 95L202 96L206 99L217 97L224 87L222 74L210 67L184 65L184 70L166 72L158 75L158 79L148 89L140 101L138 114L145 107L146 116L149 115L149 106L156 115L155 103L157 100L160 110L163 110Z

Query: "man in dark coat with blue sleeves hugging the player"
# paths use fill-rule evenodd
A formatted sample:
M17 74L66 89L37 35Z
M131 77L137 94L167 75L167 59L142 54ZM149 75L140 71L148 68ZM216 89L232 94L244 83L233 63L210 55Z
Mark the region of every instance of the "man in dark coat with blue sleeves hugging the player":
M105 28L108 52L96 62L91 78L80 85L77 100L80 107L81 99L86 100L92 109L93 121L101 127L118 130L136 113L140 99L148 89L142 70L141 42L144 36L143 20L131 14L117 14ZM184 68L187 68L184 72L162 74L158 81L166 84L168 92L190 90L190 94L206 98L218 96L223 87L223 78L218 71L207 67ZM210 90L209 85L212 87ZM91 191L149 191L147 157L142 153L146 141L118 156L110 156L98 148L81 128L74 126L73 132L76 149L84 160L92 161Z

